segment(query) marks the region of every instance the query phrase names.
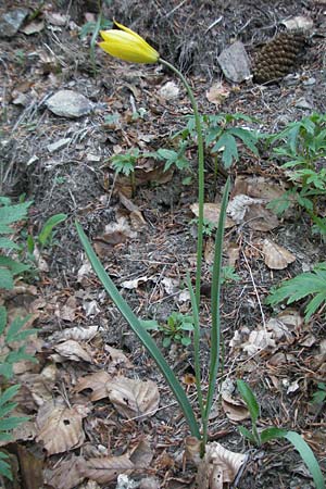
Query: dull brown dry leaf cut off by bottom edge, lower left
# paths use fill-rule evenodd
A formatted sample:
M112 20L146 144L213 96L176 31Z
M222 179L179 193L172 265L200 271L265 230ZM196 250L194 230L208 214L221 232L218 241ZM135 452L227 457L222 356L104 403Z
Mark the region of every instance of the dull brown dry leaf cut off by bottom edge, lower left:
M61 462L53 471L46 472L47 485L54 489L73 489L85 479L85 476L80 475L80 467L85 463L83 456L75 455Z

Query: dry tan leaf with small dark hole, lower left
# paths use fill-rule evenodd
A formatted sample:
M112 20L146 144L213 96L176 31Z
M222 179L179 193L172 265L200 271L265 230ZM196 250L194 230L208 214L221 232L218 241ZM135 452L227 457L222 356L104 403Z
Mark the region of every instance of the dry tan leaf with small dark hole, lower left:
M53 402L43 404L37 415L38 436L49 455L73 450L80 447L85 440L83 417L79 406L65 408Z

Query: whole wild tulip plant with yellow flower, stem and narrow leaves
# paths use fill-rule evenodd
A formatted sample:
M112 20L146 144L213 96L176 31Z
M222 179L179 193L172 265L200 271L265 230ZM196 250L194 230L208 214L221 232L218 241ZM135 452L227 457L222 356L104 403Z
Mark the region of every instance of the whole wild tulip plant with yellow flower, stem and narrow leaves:
M204 149L202 127L200 122L200 115L198 111L197 101L193 92L187 83L184 75L171 63L162 60L155 49L153 49L145 39L131 29L114 22L118 29L101 32L103 41L99 43L100 48L112 57L120 58L123 61L131 63L161 63L168 67L176 76L181 80L185 86L188 97L190 99L196 133L198 143L198 201L199 201L199 217L198 217L198 235L197 235L197 269L196 269L196 288L192 289L189 274L187 274L187 286L190 292L192 315L193 315L193 355L195 355L195 373L196 373L196 387L197 398L201 417L201 424L198 423L195 410L192 409L185 390L178 381L176 375L167 364L161 350L156 343L146 330L141 321L134 314L128 303L123 299L117 288L113 284L110 276L106 274L103 265L96 255L89 240L87 239L82 226L76 222L76 228L82 241L82 244L86 251L86 254L101 280L104 289L120 310L121 314L125 317L136 336L140 339L143 347L148 350L153 358L161 373L165 377L167 384L171 387L180 409L184 412L185 418L190 428L191 435L200 441L200 454L203 457L205 454L205 446L208 443L208 428L209 416L214 400L214 390L216 385L217 373L220 368L220 353L221 353L221 285L222 285L222 252L223 252L223 236L224 225L226 217L226 208L229 193L229 180L227 180L223 193L221 214L218 220L218 227L215 238L215 252L214 264L212 273L212 288L211 288L211 355L210 355L210 373L209 373L209 389L206 398L203 398L203 391L201 388L201 365L200 365L200 283L202 271L202 248L203 248L203 203L204 203ZM315 461L316 465L317 462ZM317 468L319 468L317 466ZM316 485L318 489L324 486L318 482Z

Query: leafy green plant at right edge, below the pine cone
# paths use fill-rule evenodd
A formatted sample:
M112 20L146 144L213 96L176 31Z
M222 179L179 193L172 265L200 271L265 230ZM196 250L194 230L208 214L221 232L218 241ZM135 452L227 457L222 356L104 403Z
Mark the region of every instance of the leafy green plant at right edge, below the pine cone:
M283 214L297 202L314 223L313 231L326 236L326 220L318 215L318 205L326 199L326 115L312 114L290 123L280 133L267 138L273 154L284 163L281 167L291 188L268 206ZM322 205L323 206L323 205Z

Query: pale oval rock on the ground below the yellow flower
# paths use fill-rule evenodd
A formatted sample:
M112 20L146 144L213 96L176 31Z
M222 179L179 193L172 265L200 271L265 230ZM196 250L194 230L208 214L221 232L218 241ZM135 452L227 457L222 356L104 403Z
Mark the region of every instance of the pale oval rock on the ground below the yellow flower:
M83 117L95 108L90 100L73 90L58 91L47 100L46 105L55 115L73 118Z

